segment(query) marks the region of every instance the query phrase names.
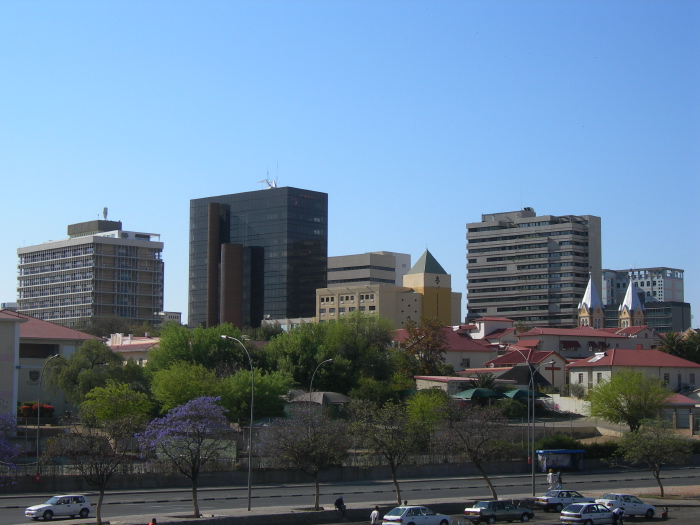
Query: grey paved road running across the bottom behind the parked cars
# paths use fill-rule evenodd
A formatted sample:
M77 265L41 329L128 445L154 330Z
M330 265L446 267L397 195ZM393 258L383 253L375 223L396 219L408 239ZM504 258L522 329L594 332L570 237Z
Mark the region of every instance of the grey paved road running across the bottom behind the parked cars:
M700 468L669 469L664 471L664 486L700 485ZM494 485L501 498L520 498L531 495L531 477L528 475L496 476ZM608 471L594 474L567 474L565 487L597 496L606 491L653 492L656 481L648 471ZM546 490L543 476L537 478L537 494ZM669 490L672 492L672 490ZM371 508L380 505L391 508L396 501L396 494L391 482L364 483L328 483L321 486L321 505L332 508L338 495L343 495L349 508ZM0 496L0 525L24 524L27 520L23 510L29 505L46 499L45 494L18 494ZM431 502L469 502L490 497L481 478L444 478L401 480L401 497L409 503L430 504ZM222 515L236 512L246 515L247 488L241 486L200 489L200 510L205 516ZM310 484L264 485L253 487L251 506L253 511L262 507L277 509L302 509L313 504L313 486ZM192 512L189 490L169 489L151 491L110 492L105 497L103 519L112 523L135 522L147 523L144 517L176 516ZM279 510L278 510L279 512ZM538 513L538 523L549 519L548 514ZM124 517L139 517L138 520ZM556 516L554 516L556 518ZM66 525L74 520L62 520ZM551 520L550 520L551 521ZM556 522L556 519L553 521ZM79 520L76 523L80 523ZM690 523L690 522L689 522ZM697 521L700 523L700 520Z

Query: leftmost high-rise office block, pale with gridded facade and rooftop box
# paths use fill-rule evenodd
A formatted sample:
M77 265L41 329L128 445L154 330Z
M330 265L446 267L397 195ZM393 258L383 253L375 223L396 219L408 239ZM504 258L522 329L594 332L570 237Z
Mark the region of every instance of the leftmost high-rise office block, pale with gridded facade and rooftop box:
M68 226L68 239L19 248L17 310L72 327L91 317L153 322L163 311L163 243L120 221Z

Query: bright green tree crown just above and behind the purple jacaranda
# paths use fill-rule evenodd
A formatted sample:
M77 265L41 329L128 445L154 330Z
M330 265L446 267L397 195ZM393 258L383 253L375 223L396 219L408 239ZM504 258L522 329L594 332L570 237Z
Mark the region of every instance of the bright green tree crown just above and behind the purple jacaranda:
M214 371L201 364L180 361L156 372L151 389L161 405L160 412L165 413L199 397L218 396L221 384Z

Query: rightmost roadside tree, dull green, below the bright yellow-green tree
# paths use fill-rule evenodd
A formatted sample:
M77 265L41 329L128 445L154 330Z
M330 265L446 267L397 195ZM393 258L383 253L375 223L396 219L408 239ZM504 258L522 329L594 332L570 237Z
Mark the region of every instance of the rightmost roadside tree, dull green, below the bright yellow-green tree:
M645 420L635 432L625 434L618 445L622 456L630 463L646 463L659 485L661 497L661 468L669 463L685 462L692 451L689 440L673 432L661 419Z

